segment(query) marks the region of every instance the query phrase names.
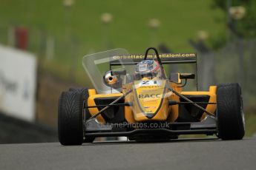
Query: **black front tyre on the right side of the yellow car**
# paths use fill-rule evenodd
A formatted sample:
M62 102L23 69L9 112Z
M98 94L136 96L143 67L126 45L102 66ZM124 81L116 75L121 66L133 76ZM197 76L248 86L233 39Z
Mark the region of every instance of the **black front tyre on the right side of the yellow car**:
M240 140L245 135L243 98L239 84L217 86L217 131L223 140Z

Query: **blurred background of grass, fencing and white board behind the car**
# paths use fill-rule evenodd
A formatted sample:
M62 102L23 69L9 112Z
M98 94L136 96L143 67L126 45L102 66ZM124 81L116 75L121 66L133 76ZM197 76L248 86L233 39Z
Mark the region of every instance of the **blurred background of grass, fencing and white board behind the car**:
M199 87L238 82L256 132L256 1L0 0L0 143L57 140L59 95L91 86L82 57L197 52Z

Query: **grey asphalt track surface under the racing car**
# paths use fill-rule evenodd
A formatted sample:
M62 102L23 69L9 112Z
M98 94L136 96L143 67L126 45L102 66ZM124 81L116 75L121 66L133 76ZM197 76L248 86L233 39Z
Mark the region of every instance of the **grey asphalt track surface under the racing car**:
M0 169L256 169L256 138L2 144Z

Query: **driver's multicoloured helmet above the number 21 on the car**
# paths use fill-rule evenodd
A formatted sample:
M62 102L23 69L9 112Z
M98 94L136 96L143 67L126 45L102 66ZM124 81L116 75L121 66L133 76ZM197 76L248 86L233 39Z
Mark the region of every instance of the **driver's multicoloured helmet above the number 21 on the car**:
M137 64L135 69L135 77L139 78L162 78L163 72L160 64L154 60L143 60Z

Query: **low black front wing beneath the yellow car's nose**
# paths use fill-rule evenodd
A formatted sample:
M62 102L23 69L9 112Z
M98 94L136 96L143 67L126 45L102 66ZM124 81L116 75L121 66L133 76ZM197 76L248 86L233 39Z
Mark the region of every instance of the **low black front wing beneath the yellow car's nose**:
M119 123L120 124L120 123ZM140 126L137 125L137 126ZM92 119L84 126L84 137L133 137L137 135L214 135L217 133L216 120L206 116L201 122L173 122L166 123L164 127L137 127L131 125L116 126L115 124L101 124L96 119Z

